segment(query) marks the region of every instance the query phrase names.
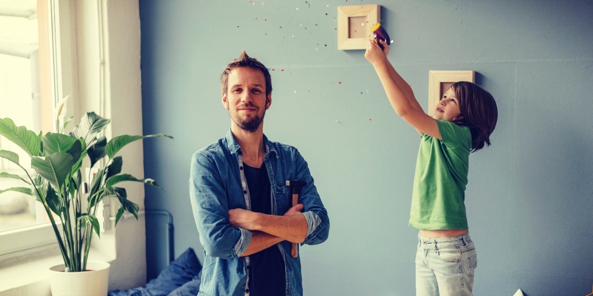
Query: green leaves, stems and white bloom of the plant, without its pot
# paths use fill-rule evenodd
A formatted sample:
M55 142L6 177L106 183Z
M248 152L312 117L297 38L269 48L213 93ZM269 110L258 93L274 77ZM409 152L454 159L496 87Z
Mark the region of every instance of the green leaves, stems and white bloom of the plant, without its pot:
M121 135L107 141L101 132L110 120L94 112L86 113L79 125L66 133L66 126L72 120L71 117L63 121L67 99L60 101L56 109L57 132L36 134L24 126L17 127L9 118L0 119L0 135L27 152L32 169L20 164L17 153L0 150L0 157L17 164L26 176L1 172L0 177L20 179L24 183L21 187L0 189L0 193L21 192L42 203L58 240L65 271L83 272L87 270L93 232L100 235L95 215L101 200L110 197L119 200L121 205L115 219L117 225L124 212L138 219L139 209L136 203L127 199L126 189L119 187L120 183L142 182L158 187L152 179L138 179L122 173L123 161L121 156L116 156L117 152L139 139L173 137L162 133ZM84 167L94 171L94 176L87 176L90 184L82 179Z

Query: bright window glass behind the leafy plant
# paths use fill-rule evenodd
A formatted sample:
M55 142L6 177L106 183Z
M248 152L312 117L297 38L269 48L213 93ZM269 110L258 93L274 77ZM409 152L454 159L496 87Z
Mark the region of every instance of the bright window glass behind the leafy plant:
M70 42L68 1L0 1L0 117L34 132L53 131L53 107L72 75L61 66ZM59 25L59 26L58 26ZM68 59L69 60L69 59ZM0 149L20 152L7 139ZM20 155L28 168L29 157ZM22 174L2 158L0 168ZM17 184L11 184L17 182ZM17 180L0 178L0 189L22 186ZM17 192L0 195L0 259L19 256L56 244L42 206L31 196ZM23 251L27 251L23 253Z

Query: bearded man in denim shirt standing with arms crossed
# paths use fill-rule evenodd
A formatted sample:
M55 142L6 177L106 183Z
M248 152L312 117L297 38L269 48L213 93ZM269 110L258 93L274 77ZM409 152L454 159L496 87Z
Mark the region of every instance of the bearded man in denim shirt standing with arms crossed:
M272 104L266 66L243 51L222 73L231 129L192 157L190 199L204 268L199 295L302 295L301 262L291 244L319 244L329 218L296 148L269 141L263 118ZM286 180L301 180L292 206Z

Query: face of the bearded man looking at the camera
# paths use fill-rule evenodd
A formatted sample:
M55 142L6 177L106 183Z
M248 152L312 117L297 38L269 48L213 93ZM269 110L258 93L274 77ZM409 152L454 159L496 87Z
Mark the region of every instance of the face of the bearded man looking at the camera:
M272 94L266 97L266 79L262 71L249 67L232 69L228 89L222 93L222 104L235 126L247 132L261 128Z

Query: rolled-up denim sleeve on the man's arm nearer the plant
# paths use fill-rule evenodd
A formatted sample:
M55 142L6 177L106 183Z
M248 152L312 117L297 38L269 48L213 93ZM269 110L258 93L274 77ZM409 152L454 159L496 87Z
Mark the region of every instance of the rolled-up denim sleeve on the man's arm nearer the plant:
M213 257L239 257L251 243L251 232L231 227L228 198L223 176L228 172L217 165L207 150L192 155L189 192L200 243Z

